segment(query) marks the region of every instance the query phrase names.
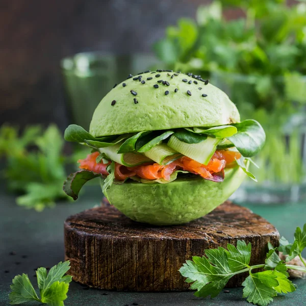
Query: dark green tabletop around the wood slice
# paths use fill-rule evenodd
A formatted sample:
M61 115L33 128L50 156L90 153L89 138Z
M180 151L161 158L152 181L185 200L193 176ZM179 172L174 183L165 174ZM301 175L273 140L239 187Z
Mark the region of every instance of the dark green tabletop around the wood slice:
M100 204L98 187L89 186L77 202L62 202L42 213L25 210L15 205L14 197L0 193L0 305L9 305L8 294L12 278L27 273L36 285L35 269L52 267L64 258L63 222L71 214ZM292 240L296 226L306 222L306 203L285 205L245 205L276 226L279 233ZM10 255L10 252L16 252ZM306 281L294 281L296 292L274 299L272 305L306 305ZM36 287L37 288L37 287ZM137 303L145 306L243 306L242 288L222 292L215 299L199 299L192 292L129 293L89 289L72 282L65 305L123 306ZM28 303L32 306L39 303Z

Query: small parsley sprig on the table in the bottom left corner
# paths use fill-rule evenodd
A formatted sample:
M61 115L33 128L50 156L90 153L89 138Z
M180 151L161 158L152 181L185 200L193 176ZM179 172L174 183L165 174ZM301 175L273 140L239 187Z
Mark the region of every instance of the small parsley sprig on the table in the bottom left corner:
M36 275L40 298L27 274L16 275L11 285L10 304L19 305L38 301L49 306L64 306L63 301L67 298L69 283L72 280L72 276L64 275L69 269L69 261L58 263L50 269L49 273L46 268L38 268Z

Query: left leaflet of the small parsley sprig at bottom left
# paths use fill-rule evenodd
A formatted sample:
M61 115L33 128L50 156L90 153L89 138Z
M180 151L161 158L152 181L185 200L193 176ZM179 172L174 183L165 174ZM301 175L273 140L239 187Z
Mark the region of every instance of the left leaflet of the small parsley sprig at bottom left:
M19 305L30 301L40 301L27 274L16 275L9 295L11 305Z

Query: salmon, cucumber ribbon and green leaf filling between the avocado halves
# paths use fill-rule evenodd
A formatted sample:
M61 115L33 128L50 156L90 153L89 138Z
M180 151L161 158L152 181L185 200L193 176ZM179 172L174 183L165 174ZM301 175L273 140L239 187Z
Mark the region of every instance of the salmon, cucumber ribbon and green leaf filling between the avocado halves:
M247 165L261 150L265 133L254 120L106 137L94 137L72 124L65 139L92 148L91 154L79 160L82 170L71 173L64 184L65 192L75 199L81 187L97 176L104 180L106 195L112 184L131 180L167 184L179 176L193 176L220 183L224 168L237 166L254 180Z

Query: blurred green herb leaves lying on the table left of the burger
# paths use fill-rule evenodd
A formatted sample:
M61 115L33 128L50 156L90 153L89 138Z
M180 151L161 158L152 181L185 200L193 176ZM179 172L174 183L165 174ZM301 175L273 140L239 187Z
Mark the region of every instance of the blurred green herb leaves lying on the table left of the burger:
M19 136L18 129L0 128L0 157L6 160L3 176L11 192L20 193L16 202L25 208L42 211L55 206L55 200L67 199L62 190L66 179L63 156L64 139L56 125L43 131L29 126Z

